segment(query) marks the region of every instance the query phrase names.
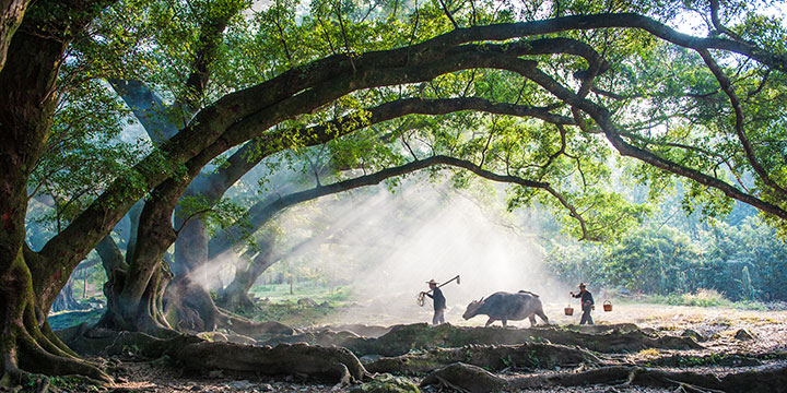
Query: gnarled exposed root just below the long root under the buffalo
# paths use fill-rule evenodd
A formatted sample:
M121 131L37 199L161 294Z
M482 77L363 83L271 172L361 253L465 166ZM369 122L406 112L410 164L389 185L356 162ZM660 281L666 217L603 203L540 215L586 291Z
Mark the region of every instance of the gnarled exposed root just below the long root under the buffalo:
M600 365L601 359L577 347L554 344L469 345L462 348L435 348L425 353L381 358L365 365L369 372L423 373L465 362L484 369L503 370Z

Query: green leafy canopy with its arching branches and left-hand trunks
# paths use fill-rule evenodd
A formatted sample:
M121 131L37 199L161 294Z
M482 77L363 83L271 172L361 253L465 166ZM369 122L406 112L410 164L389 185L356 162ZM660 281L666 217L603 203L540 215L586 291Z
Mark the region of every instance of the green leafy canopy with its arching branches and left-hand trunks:
M785 28L759 5L3 3L4 370L106 379L42 315L89 252L114 252L102 241L134 205L103 323L169 332L157 311L166 250L266 159L308 163L318 191L326 172L456 168L457 184L509 182L512 209L553 207L587 240L647 213L612 179L655 200L680 182L686 211L724 215L740 201L784 236ZM677 28L685 21L692 34ZM149 144L118 140L129 121ZM54 207L38 247L25 239L31 201ZM189 258L207 258L203 240Z

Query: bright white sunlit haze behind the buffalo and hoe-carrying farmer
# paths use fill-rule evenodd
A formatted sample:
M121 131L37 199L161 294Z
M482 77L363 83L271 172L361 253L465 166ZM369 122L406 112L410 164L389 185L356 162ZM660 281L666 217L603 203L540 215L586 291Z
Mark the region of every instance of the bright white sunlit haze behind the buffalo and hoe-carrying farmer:
M543 266L535 238L539 228L527 211L505 212L503 184L483 184L479 196L448 181L418 179L421 176L392 192L385 186L345 192L291 209L279 218L291 238L301 238L289 241L299 241L297 252L279 245L283 263L312 266L351 288L355 303L337 323L430 321L431 299L419 307L418 294L428 290L425 282L431 278L443 283L456 275L460 284L442 288L450 323L485 322L484 317L465 321L461 314L471 300L500 290L530 290L544 302L559 293L565 298L567 289Z

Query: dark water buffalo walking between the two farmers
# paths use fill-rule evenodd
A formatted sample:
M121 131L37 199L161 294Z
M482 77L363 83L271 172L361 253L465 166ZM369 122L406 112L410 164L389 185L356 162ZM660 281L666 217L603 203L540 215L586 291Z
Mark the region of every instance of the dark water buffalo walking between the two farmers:
M503 321L505 326L508 321L521 321L526 318L530 319L530 325L533 326L536 325L536 315L549 323L549 318L543 313L538 295L527 290L516 294L500 291L486 299L473 300L468 305L462 318L469 320L479 314L489 315L486 326L497 320Z

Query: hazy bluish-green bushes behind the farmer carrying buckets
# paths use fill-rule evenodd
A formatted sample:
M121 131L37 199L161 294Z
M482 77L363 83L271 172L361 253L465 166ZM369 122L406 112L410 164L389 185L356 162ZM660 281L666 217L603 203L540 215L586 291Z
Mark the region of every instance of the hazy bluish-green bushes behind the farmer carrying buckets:
M787 300L787 245L774 240L774 228L754 216L738 225L704 226L696 218L689 223L685 228L646 225L609 246L559 246L547 263L566 282L623 288L657 302Z

